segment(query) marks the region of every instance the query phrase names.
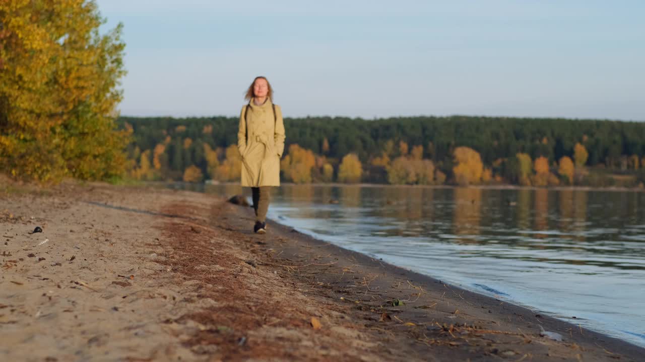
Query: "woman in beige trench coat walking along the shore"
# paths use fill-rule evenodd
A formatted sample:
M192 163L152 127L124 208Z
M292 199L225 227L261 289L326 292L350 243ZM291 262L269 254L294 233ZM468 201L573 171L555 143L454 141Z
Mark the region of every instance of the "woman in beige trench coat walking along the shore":
M284 152L282 110L273 104L273 89L265 77L255 77L246 91L237 148L242 156L242 186L251 187L255 233L266 233L270 187L280 186L280 158Z

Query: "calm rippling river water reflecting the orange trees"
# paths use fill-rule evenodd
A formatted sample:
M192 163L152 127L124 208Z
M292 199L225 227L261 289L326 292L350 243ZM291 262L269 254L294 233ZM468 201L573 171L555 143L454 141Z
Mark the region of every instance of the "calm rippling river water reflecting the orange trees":
M645 193L285 185L268 217L645 347Z

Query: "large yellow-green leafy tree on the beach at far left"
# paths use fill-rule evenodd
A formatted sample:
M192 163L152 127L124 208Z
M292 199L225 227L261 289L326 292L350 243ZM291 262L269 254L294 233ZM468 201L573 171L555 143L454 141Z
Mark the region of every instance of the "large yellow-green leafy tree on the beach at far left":
M41 182L123 175L123 26L101 35L101 24L94 1L0 1L0 170Z

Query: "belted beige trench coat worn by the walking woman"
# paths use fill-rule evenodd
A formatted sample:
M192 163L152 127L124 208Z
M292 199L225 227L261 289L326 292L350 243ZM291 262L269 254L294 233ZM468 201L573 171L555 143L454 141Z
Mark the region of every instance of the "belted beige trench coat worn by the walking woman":
M242 156L242 186L280 186L280 158L284 152L282 110L267 99L261 106L249 102L240 112L237 148Z

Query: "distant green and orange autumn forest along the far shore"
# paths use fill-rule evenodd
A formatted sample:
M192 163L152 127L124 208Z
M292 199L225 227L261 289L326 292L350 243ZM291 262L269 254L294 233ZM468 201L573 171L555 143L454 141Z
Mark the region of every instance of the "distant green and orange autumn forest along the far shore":
M141 180L239 178L237 117L121 117ZM284 119L284 181L642 186L645 122L510 117ZM233 147L231 147L233 146Z

